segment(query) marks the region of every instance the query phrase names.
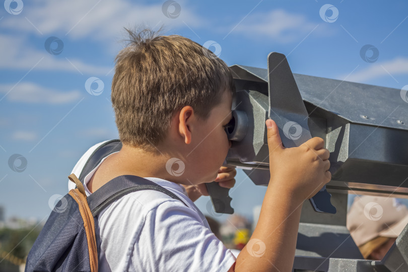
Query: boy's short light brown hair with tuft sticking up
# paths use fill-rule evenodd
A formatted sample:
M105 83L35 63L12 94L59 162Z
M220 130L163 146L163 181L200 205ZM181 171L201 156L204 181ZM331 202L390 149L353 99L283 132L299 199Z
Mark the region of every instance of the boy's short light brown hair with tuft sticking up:
M111 95L123 144L152 151L182 107L206 120L224 90L235 92L229 67L198 43L150 29L126 31L129 43L115 58Z

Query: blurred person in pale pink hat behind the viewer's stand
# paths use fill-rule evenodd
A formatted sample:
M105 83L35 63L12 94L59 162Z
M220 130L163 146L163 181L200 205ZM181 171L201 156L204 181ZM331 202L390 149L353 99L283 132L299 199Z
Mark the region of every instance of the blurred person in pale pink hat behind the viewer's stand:
M365 259L382 260L408 223L408 209L392 197L354 198L347 229Z

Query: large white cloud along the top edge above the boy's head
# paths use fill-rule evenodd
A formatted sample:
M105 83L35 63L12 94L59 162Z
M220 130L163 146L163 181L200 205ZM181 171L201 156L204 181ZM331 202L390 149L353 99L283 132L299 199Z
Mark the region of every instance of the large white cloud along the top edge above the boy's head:
M43 0L25 5L21 14L24 14L23 16L4 18L2 26L8 30L38 35L40 32L45 36L60 32L73 39L96 39L109 43L112 38L118 37L124 26L146 23L154 27L164 23L169 27L185 27L184 22L190 27L203 25L200 16L194 14L183 2L179 3L181 7L179 17L170 19L162 12L163 3L144 6L126 0ZM38 31L24 17L27 17Z

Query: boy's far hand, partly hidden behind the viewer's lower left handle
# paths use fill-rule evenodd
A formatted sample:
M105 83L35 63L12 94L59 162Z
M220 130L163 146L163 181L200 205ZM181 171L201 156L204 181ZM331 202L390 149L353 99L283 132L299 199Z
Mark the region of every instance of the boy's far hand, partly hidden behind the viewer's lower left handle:
M237 174L237 170L235 167L232 166L221 166L218 170L218 175L216 178L216 182L221 187L225 188L232 188L235 185L235 175ZM197 185L183 185L187 191L188 197L195 201L201 195L210 195L207 190L206 183L201 183Z

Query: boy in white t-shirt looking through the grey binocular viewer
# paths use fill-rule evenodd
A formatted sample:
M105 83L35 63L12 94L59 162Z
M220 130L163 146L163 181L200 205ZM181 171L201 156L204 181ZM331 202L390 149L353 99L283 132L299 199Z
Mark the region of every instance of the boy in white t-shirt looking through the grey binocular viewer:
M221 186L235 183L235 170L221 167L231 146L224 129L235 92L229 68L187 38L127 31L111 95L123 147L88 174L87 194L117 176L137 175L187 207L153 190L113 202L98 216L100 271L291 270L302 203L331 178L323 140L285 149L276 123L266 121L270 182L252 241L236 259L193 203L217 177Z

